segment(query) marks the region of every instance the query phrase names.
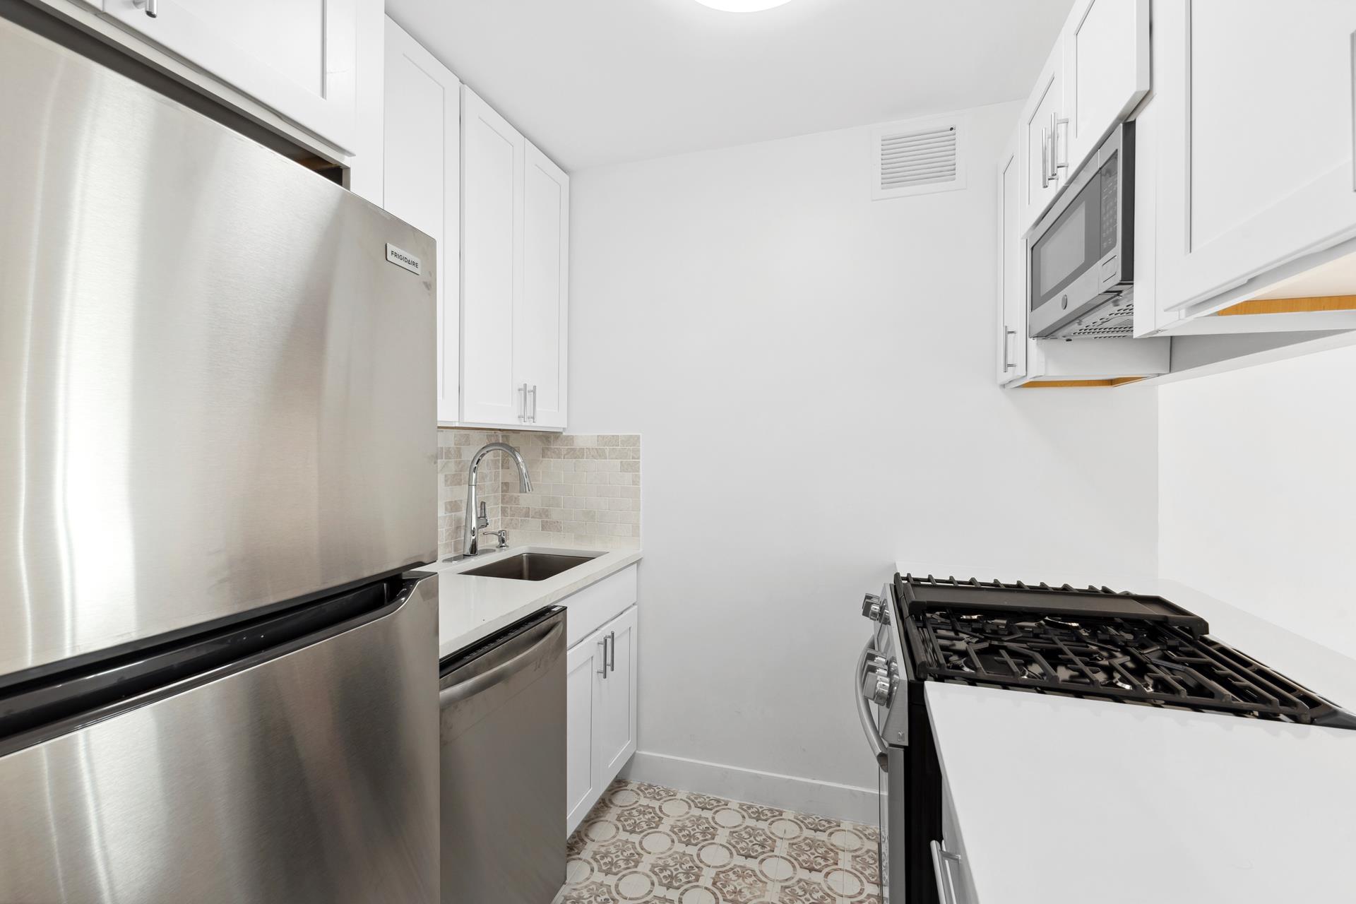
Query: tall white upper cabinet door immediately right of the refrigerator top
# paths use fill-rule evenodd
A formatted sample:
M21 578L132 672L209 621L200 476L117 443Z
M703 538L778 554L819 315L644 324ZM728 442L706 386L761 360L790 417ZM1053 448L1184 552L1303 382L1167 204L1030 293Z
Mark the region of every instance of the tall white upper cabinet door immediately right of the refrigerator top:
M438 422L458 420L461 83L386 19L385 207L437 243Z

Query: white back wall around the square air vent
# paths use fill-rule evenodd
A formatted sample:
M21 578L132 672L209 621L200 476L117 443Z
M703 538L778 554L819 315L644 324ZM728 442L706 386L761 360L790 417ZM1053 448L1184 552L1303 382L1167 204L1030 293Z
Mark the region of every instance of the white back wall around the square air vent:
M875 786L848 683L896 558L1154 571L1154 390L993 381L1016 117L907 199L866 129L572 176L571 430L643 434L644 774L873 806L757 779Z

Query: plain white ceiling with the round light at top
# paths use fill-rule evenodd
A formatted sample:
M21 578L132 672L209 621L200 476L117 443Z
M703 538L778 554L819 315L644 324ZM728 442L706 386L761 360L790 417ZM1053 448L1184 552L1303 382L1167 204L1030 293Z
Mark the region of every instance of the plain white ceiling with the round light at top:
M1071 0L386 0L565 169L1026 96Z

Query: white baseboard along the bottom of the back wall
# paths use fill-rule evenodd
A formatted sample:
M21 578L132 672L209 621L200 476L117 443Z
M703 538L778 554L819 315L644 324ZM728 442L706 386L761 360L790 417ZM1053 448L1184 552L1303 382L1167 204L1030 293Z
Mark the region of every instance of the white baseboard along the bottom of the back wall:
M650 751L636 751L631 762L622 767L621 775L633 782L650 782L681 792L700 792L853 823L871 824L880 819L875 787L816 782L810 778L704 763Z

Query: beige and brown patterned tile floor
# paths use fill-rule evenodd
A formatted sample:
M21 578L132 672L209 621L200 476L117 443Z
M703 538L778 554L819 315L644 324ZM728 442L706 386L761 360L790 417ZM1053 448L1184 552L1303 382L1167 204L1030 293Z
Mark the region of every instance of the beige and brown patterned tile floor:
M879 904L871 825L617 779L556 904Z

